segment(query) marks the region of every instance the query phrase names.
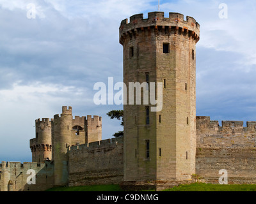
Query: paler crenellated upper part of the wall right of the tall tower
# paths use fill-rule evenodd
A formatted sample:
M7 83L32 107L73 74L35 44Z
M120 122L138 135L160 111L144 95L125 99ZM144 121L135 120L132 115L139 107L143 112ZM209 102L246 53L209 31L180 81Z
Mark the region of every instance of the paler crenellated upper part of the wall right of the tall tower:
M222 126L210 117L196 117L196 147L256 148L256 122L224 120Z

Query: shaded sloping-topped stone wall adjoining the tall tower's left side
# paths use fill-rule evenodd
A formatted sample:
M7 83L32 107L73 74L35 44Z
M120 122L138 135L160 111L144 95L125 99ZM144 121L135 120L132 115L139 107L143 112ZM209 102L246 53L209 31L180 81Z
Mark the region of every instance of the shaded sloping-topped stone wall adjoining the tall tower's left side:
M70 147L69 186L120 184L124 177L123 138Z

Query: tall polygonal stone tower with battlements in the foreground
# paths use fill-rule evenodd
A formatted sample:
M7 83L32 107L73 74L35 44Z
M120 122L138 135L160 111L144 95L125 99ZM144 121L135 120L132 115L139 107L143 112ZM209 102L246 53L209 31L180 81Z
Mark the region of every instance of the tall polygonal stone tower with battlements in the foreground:
M161 111L153 105L124 105L124 182L155 184L189 180L195 173L196 43L200 25L180 13L133 15L120 25L124 83L162 83ZM157 85L156 85L157 87ZM141 89L143 91L143 89ZM129 92L129 91L127 91ZM135 98L136 96L134 96ZM134 99L135 101L135 99Z

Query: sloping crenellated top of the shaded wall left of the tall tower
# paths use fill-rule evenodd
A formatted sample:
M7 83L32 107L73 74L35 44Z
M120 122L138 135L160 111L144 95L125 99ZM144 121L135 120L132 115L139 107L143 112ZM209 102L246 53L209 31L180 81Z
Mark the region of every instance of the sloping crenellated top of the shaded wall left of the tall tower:
M69 151L81 150L81 149L92 150L95 148L109 147L109 145L113 145L113 147L116 147L116 145L118 145L118 143L123 143L123 142L124 142L124 139L122 137L111 138L111 139L107 139L107 140L100 140L97 142L85 143L83 145L76 145L76 146L68 147L68 150Z

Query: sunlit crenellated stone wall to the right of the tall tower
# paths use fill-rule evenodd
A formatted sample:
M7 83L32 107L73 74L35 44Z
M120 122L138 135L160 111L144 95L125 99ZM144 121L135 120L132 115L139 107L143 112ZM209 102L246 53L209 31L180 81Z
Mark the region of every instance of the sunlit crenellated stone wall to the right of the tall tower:
M196 174L218 183L219 171L228 184L256 184L256 122L211 121L196 117Z

